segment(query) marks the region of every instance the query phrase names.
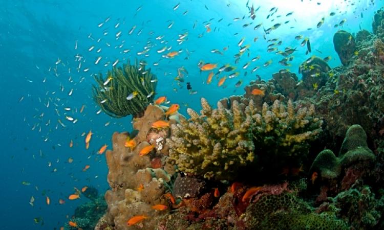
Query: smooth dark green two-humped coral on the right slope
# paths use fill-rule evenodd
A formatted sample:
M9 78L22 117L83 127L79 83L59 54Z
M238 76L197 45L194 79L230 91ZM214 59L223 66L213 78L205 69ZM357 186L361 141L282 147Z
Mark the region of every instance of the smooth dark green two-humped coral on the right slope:
M329 150L320 152L312 163L310 172L319 172L323 178L333 179L339 176L341 168L347 168L358 162L373 162L376 156L368 148L367 134L360 125L349 127L339 156Z

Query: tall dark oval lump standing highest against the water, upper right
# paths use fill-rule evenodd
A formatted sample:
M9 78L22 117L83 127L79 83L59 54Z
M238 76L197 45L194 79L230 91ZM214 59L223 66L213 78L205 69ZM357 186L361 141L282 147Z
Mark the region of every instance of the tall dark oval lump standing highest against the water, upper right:
M333 36L333 45L340 61L347 65L356 50L355 38L345 30L339 30Z

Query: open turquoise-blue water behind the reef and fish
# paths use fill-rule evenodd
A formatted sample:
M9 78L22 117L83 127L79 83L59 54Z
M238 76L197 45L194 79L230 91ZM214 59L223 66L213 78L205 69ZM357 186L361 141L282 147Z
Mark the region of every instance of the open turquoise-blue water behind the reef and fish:
M109 188L105 157L96 152L104 144L111 146L114 131L131 131L132 117L114 119L98 113L100 108L92 99L91 86L95 84L93 75L105 74L116 60L117 65L128 60L145 60L158 77L156 97L167 96L172 103L180 104L180 112L186 114L187 107L200 109L201 97L215 104L223 97L242 95L244 86L257 75L268 80L273 73L289 68L300 77L298 66L312 55L331 56L328 62L331 67L341 65L333 48L333 34L339 29L372 32L372 17L383 3L382 0L0 1L0 228L59 229L79 204L88 201L68 200L74 187L93 186L100 194ZM251 5L260 7L254 20L249 18L247 6ZM293 13L286 16L290 12ZM329 16L331 12L335 15ZM324 24L317 28L322 17ZM343 26L334 28L344 19ZM250 22L251 25L244 26ZM277 23L281 24L279 28L265 34L263 29ZM129 34L133 27L136 28ZM179 35L185 33L185 40L179 44ZM297 40L297 35L303 38ZM162 38L156 39L159 36ZM311 43L310 54L306 54L306 45L300 45L305 37ZM235 64L233 56L239 52L242 38L245 38L243 45L250 47ZM291 66L280 65L278 62L283 57L267 52L270 44L267 40L273 38L282 41L279 50L297 47L294 59L289 62ZM138 55L145 50L147 42L153 47ZM162 55L168 51L159 54L157 50L165 46L180 52L174 58L164 58ZM222 54L212 53L214 49ZM260 59L252 62L257 56ZM101 60L95 64L98 57ZM235 72L239 76L226 79L220 87L215 77L211 84L206 84L209 72L200 71L201 60L217 63L218 67L227 63L237 66ZM272 63L264 67L268 60ZM159 64L154 66L156 62ZM249 66L243 69L247 62ZM188 75L178 85L174 78L182 66ZM260 68L251 73L256 66ZM236 87L239 80L243 83ZM193 91L186 89L186 82L190 82ZM68 121L66 116L77 122ZM94 135L86 150L82 134L90 130ZM69 147L71 140L73 147ZM68 162L69 158L73 163ZM86 165L90 168L83 171ZM65 204L59 204L59 199L65 199Z

